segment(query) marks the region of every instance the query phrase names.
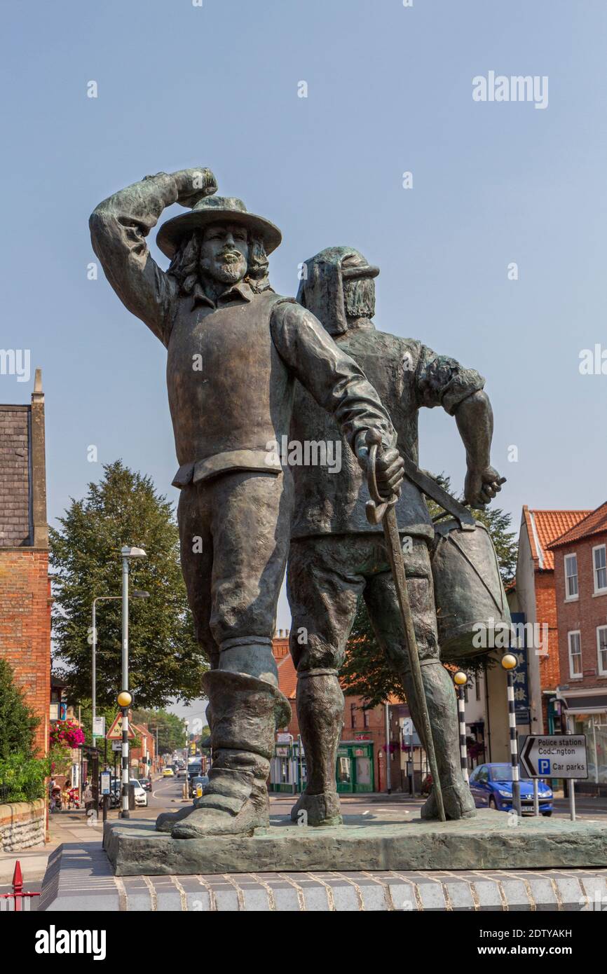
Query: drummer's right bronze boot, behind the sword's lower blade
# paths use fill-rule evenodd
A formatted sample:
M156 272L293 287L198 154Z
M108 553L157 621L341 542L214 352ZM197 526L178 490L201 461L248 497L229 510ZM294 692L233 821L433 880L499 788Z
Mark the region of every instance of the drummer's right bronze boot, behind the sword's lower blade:
M401 673L400 678L405 689L413 723L426 748L426 753L428 753L421 709L410 671ZM476 814L476 809L470 787L462 774L457 703L451 679L445 668L436 659L430 663L422 663L422 680L435 742L436 765L445 815L447 818L453 819L472 818ZM434 784L428 801L422 806L421 816L424 819L438 818Z

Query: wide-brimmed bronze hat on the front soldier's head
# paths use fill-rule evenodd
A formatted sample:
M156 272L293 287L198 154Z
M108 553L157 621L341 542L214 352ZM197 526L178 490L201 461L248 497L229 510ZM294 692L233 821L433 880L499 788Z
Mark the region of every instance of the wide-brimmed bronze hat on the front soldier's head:
M173 216L163 223L158 231L156 243L168 257L174 255L182 237L207 227L209 223L241 223L253 235L261 237L266 253L272 253L283 240L283 235L274 223L247 211L242 200L234 196L206 196L192 207L189 213Z

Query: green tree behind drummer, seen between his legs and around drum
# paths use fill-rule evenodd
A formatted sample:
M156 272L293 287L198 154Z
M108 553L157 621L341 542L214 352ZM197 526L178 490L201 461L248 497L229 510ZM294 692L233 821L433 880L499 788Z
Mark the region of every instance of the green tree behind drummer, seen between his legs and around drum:
M438 476L437 481L446 491L450 489L449 477ZM432 500L427 500L431 517L443 513L442 507ZM477 521L486 527L495 545L500 566L502 581L506 584L514 575L516 569L516 541L514 534L509 531L512 515L500 507L488 506L482 510L473 510ZM454 661L469 675L478 676L492 661L487 655ZM354 620L344 664L340 670L340 677L344 692L349 695L361 696L367 707L374 707L385 702L391 694L400 699L405 698L404 687L398 677L388 665L382 654L368 617L364 599L359 599L357 615Z

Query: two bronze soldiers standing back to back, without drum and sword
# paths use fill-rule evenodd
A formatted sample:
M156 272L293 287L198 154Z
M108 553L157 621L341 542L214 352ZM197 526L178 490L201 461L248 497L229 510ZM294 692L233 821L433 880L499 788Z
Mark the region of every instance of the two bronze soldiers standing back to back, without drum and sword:
M280 231L240 200L214 196L216 188L209 169L161 172L109 197L91 217L108 281L168 350L181 565L210 664L203 680L209 785L193 809L161 815L157 828L181 839L268 824L275 729L290 714L272 654L287 556L308 768L293 818L304 809L309 825L340 821L338 670L360 595L421 727L383 538L364 517L368 430L382 441L380 494L398 494L399 530L410 539L407 587L445 810L451 818L474 814L460 769L455 695L438 656L433 526L421 492L403 479L398 451L417 462L418 411L442 405L466 447L466 500L488 503L499 477L489 461L492 414L483 380L418 341L375 329L379 272L357 250L323 250L306 262L297 300L276 294L268 256ZM171 260L165 272L145 238L173 203L191 208L158 232ZM343 440L341 469L290 467L269 449L284 437ZM202 539L202 550L193 539ZM297 631L307 634L303 644ZM422 815L436 817L433 794Z

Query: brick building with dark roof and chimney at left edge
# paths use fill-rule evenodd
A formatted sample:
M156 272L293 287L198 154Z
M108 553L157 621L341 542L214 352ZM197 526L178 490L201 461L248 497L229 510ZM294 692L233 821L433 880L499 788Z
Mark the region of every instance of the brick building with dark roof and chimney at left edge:
M40 370L27 405L0 405L0 656L40 718L46 754L51 701L51 582Z

